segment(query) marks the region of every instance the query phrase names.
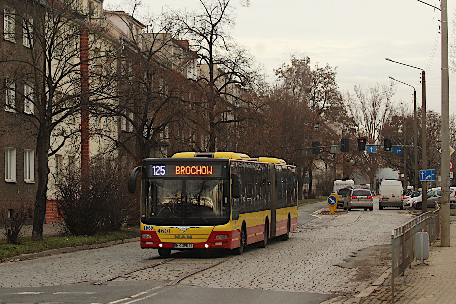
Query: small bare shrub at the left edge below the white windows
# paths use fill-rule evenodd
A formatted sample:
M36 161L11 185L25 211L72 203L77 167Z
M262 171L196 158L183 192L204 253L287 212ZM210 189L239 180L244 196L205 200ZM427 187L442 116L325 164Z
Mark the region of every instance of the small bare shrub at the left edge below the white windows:
M32 206L31 200L0 200L0 219L5 226L4 231L0 230L0 232L5 235L10 244L19 244L19 238L26 233L24 225L32 218Z

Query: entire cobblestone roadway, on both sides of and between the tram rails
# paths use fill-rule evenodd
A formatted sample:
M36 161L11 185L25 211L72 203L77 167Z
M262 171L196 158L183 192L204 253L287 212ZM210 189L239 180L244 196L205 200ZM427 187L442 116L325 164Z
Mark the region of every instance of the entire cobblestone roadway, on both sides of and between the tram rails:
M321 204L320 206L324 206ZM326 205L327 206L327 205ZM300 207L315 210L316 205ZM358 222L355 222L358 217ZM335 264L362 248L388 244L390 232L409 221L397 209L352 211L347 215L321 215L291 233L290 240L274 240L266 248L251 248L240 256L197 273L181 284L196 287L237 287L326 294L353 293L371 281L359 278L359 269ZM333 227L335 226L335 227ZM324 228L327 227L327 228ZM321 229L323 228L323 229ZM71 252L21 262L0 264L0 287L33 287L92 282L116 273L153 264L155 250L141 250L138 243ZM171 280L217 258L177 258L115 281ZM385 268L380 265L378 269ZM380 272L381 273L381 272Z

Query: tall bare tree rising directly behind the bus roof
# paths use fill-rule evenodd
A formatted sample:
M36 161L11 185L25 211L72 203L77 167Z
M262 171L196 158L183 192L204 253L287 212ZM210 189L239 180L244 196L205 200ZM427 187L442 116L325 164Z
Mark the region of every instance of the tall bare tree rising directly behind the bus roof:
M255 96L264 82L262 67L231 36L234 25L233 0L200 0L198 11L174 11L182 37L198 60L197 83L203 92L201 124L207 121L207 149L215 151L223 125L249 119L259 105ZM249 1L240 1L248 5ZM204 130L203 129L203 130Z

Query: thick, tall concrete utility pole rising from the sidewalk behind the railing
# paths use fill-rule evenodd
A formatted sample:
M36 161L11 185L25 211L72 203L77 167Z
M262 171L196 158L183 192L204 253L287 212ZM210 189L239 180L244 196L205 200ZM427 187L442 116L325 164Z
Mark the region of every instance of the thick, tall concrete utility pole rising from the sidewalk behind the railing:
M450 93L448 89L448 8L442 5L442 160L440 246L450 247Z

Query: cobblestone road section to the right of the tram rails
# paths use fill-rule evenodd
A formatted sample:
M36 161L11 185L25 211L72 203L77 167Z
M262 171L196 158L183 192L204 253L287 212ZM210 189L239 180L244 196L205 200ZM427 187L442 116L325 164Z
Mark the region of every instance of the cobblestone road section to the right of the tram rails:
M360 215L359 222L350 224ZM378 210L375 204L374 211L322 215L298 228L286 242L273 242L266 248L246 252L182 283L199 287L346 293L364 288L359 283L352 283L357 280L358 270L335 264L343 263L351 252L390 243L392 227L409 220L406 211ZM337 225L344 226L312 229Z

